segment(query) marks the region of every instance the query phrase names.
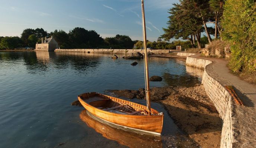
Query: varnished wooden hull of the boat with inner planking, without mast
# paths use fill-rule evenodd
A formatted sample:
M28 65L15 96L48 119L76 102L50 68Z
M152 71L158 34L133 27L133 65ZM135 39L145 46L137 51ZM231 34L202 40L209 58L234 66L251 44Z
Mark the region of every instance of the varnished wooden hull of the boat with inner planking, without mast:
M97 96L102 98L102 100L89 102L91 97ZM134 128L138 130L143 130L155 134L160 134L163 127L163 115L159 114L154 109L151 109L153 115L144 115L145 112L140 115L128 115L128 114L117 114L114 112L104 111L103 109L97 108L98 106L104 106L104 103L111 100L118 102L123 105L132 106L134 111L139 111L141 109L146 110L147 107L123 99L114 98L107 95L102 95L99 93L83 93L78 96L79 101L84 106L84 108L91 114L120 126L126 126L128 128Z

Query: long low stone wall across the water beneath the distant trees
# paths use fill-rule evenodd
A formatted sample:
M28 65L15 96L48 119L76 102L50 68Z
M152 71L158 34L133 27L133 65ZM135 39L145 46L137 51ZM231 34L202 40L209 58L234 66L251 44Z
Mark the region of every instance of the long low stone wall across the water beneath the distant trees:
M169 49L150 49L148 52L161 54L169 53ZM130 54L135 52L143 53L143 49L55 49L55 52L90 52L90 53L113 53L113 54Z

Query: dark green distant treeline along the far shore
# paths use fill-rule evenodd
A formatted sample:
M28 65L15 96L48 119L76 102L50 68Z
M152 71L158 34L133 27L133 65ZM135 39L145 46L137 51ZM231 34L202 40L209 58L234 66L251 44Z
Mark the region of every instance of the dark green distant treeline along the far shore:
M133 41L127 35L117 34L115 37L106 37L103 39L100 37L100 34L94 30L76 27L68 33L63 30L54 30L54 32L48 33L42 28L25 29L21 37L0 37L0 49L35 48L36 42L41 43L41 38L43 38L44 41L46 36L53 36L61 49L142 49L143 47L142 41ZM147 46L154 49L176 49L178 45L181 45L183 49L192 47L190 42L180 40L170 43L162 41L159 38L157 41L147 42Z

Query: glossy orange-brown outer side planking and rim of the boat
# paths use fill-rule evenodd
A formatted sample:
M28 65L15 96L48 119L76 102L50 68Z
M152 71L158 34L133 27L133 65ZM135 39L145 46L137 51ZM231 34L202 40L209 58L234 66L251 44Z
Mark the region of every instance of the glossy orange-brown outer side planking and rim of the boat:
M101 94L100 94L101 95ZM125 101L122 99L114 98L111 96L102 95L109 99L117 99L118 102L122 102L124 104L132 104L138 106L139 108L146 108L146 106ZM113 112L104 111L102 109L98 109L95 106L92 106L90 103L84 101L81 96L78 97L81 104L84 108L89 111L91 114L101 118L105 121L111 122L113 124L126 126L129 128L134 128L138 130L154 132L155 134L160 134L163 127L163 115L126 115L126 114L116 114ZM151 112L157 112L152 109Z

